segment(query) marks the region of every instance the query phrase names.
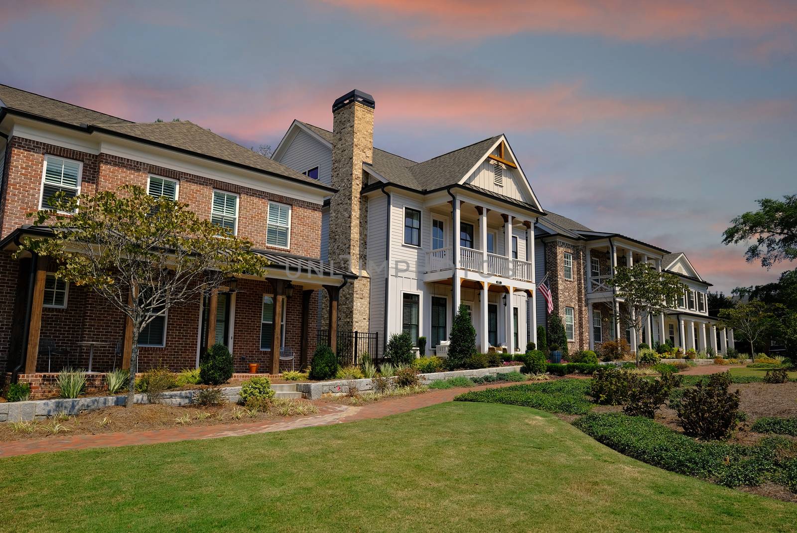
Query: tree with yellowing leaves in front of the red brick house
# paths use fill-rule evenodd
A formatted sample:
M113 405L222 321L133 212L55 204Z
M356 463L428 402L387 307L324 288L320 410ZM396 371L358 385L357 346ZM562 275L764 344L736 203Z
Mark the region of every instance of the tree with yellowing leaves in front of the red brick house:
M252 253L252 243L139 186L75 198L57 193L51 205L29 216L46 222L52 237L26 238L18 253L51 257L57 276L91 288L132 321L133 370L139 334L155 315L194 304L230 276L265 276L268 262ZM135 371L128 390L132 406Z

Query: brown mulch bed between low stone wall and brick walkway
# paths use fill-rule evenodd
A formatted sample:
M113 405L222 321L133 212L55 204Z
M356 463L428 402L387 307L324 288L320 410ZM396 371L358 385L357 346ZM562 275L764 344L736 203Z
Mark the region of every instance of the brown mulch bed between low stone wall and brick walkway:
M308 402L308 400L300 400ZM234 419L234 410L243 411L243 416ZM207 413L210 416L205 417ZM184 417L190 418L190 423ZM179 421L179 419L183 421ZM258 412L250 416L241 406L226 403L222 406L165 406L162 404L135 404L132 408L117 406L106 409L88 411L86 413L66 418L61 425L67 430L57 433L58 436L72 436L85 434L118 433L148 431L151 429L168 429L175 427L190 427L219 424L241 424L245 422L266 421L283 418L273 412ZM49 437L53 432L47 428L53 424L53 419L31 422L35 428L33 432L14 431L11 422L0 424L0 441L20 441L23 439L40 439Z

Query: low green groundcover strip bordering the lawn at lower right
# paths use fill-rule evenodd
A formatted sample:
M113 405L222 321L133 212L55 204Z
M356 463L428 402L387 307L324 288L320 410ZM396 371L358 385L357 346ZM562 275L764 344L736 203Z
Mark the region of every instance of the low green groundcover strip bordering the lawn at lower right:
M797 488L795 460L781 458L797 451L797 443L785 437L766 437L755 446L700 442L650 418L622 413L588 414L574 425L619 453L670 472L727 487L771 481Z

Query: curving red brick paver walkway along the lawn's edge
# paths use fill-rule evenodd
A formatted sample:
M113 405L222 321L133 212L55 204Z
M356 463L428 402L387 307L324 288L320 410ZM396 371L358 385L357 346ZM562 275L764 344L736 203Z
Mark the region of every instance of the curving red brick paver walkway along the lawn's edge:
M106 448L129 445L158 444L161 442L193 441L219 437L240 437L254 433L285 431L286 429L306 428L315 425L331 425L343 422L387 417L391 414L406 413L438 403L450 402L457 394L466 390L481 390L511 383L492 383L490 385L430 390L424 394L414 394L404 398L390 398L365 406L341 406L329 402L316 402L319 413L308 417L287 420L244 422L241 424L202 425L170 429L152 429L129 433L100 433L96 435L75 435L74 437L46 437L41 439L0 442L0 457L31 455L33 453L61 452L70 449Z

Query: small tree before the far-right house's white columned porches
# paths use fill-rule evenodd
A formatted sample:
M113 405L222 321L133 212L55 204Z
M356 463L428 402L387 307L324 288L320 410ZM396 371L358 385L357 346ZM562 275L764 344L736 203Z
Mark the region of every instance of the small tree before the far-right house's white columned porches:
M617 288L618 296L626 300L628 314L620 315L620 319L636 331L642 331L642 326L648 322L650 315L667 311L667 302L677 300L686 288L675 274L657 272L647 263L637 263L631 268L618 267L607 284Z

